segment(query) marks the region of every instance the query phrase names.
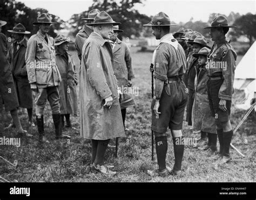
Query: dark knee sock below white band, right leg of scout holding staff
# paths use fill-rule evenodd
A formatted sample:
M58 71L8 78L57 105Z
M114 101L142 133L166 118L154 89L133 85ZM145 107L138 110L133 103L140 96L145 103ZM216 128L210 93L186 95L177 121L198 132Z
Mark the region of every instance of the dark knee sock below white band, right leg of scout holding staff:
M181 142L176 142L176 141ZM183 136L178 138L173 138L173 150L174 150L174 158L175 163L173 166L172 174L174 175L180 175L181 173L181 162L183 159L183 153L184 153L184 142L183 142Z

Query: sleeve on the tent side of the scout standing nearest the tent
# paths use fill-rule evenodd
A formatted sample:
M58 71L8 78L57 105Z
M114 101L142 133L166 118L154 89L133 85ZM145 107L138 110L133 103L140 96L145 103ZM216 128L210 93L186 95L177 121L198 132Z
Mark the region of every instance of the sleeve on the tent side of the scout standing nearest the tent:
M219 90L219 98L231 101L233 94L235 59L232 50L228 50L223 57L223 63L226 67L221 68L224 77L223 84Z

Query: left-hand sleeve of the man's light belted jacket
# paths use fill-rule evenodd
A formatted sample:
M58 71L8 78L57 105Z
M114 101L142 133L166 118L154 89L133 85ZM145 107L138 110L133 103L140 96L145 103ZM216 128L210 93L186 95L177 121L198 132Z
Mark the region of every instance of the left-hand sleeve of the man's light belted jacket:
M36 83L36 40L30 38L26 48L25 61L29 83Z

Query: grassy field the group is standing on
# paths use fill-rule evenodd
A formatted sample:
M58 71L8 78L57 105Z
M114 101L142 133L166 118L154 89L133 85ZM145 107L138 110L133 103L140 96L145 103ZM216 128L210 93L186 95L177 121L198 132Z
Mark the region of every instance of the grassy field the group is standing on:
M134 87L139 88L139 95L134 96L136 106L127 109L126 125L130 131L126 138L119 139L118 158L114 157L114 148L106 152L105 163L114 166L118 174L104 177L90 173L86 167L90 164L90 141L79 135L78 117L72 116L71 122L77 129L66 128L65 133L72 136L71 142L56 141L53 131L52 117L49 104L45 109L45 132L50 144L43 147L37 145L37 129L28 127L26 112L20 111L23 127L33 134L33 138L22 138L21 146L1 146L0 156L10 162L18 161L17 167L0 159L0 176L11 182L255 182L255 118L250 115L235 133L232 144L245 154L242 158L231 148L232 162L216 168L212 165L213 158L193 146L185 146L183 166L184 177L169 176L150 177L148 169L157 165L156 153L151 161L151 74L149 65L152 53L137 52L139 47L132 47L132 63L136 78ZM72 52L74 53L74 52ZM239 57L240 60L240 57ZM79 103L79 102L78 102ZM78 107L79 108L79 107ZM237 126L245 111L233 110L231 123ZM0 130L10 123L9 113L0 115ZM184 122L185 137L199 137L192 133L191 127ZM169 131L170 133L170 131ZM5 137L15 137L15 130L3 131ZM173 145L168 138L167 165L174 164ZM114 140L111 140L114 146ZM1 179L0 179L1 180Z

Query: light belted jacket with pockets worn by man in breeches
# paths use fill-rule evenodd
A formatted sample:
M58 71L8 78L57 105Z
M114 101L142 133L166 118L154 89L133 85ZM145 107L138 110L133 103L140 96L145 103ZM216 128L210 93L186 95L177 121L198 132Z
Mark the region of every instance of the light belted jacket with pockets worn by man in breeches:
M47 34L42 35L39 31L32 35L28 41L25 60L29 83L36 83L38 88L59 85L61 77L55 63L52 37Z

